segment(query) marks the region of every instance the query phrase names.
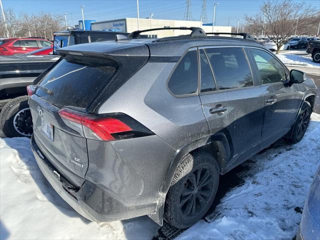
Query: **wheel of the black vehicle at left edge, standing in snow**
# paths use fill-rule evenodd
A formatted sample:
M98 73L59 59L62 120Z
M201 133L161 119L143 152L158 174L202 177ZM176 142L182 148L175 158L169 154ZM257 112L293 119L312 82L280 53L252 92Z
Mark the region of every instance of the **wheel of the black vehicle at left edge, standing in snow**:
M9 100L0 112L0 136L31 136L32 118L28 96L18 96Z

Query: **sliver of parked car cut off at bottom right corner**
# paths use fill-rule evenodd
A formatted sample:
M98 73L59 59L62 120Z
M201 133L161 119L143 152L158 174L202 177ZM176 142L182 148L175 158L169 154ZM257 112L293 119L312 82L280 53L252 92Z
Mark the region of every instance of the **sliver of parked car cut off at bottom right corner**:
M320 166L306 197L296 240L320 239Z

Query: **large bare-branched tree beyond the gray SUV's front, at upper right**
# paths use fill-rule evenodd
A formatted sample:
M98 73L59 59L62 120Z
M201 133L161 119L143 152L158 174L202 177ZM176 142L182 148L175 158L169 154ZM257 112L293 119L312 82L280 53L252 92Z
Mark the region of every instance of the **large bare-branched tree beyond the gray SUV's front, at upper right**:
M308 26L308 20L316 14L316 9L304 2L266 0L260 6L259 13L253 16L246 15L245 20L246 27L251 31L262 32L263 27L264 34L276 44L276 53L279 53L280 47L294 35L297 26Z

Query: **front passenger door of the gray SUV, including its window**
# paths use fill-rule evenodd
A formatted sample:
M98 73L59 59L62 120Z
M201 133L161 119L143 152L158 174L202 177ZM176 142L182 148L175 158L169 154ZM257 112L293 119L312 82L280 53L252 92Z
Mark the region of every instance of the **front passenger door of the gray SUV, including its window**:
M260 149L283 136L292 126L299 106L297 84L288 83L285 67L269 52L250 48L264 94L264 119Z

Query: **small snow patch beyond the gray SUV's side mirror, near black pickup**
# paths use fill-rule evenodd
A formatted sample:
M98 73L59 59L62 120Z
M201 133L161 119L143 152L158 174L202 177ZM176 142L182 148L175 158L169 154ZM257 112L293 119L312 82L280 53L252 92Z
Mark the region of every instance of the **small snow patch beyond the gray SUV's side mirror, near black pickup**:
M320 64L313 62L311 55L297 55L280 52L279 54L276 54L276 56L286 65L301 65L320 69Z

